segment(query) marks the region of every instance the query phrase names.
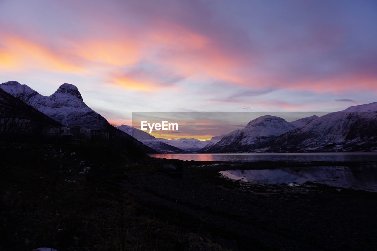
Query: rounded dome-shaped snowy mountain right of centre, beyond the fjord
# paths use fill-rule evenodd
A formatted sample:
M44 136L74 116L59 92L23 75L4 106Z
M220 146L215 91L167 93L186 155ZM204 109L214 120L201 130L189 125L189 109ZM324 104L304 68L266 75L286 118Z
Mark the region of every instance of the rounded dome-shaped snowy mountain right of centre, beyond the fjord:
M206 152L248 152L295 128L282 118L270 115L261 116L250 121L244 129L225 135Z

